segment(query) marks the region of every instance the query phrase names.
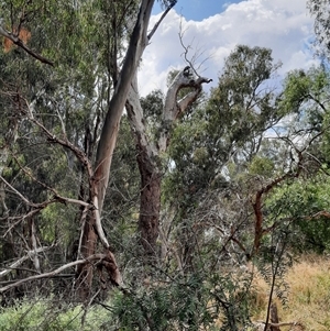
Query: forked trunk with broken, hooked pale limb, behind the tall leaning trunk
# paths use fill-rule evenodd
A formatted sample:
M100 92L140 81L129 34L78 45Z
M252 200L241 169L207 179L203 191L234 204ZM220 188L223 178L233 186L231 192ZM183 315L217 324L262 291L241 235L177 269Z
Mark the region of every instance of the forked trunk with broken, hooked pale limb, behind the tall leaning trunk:
M204 77L199 77L196 80L191 79L190 76L185 75L184 70L175 77L166 93L162 117L163 125L160 130L160 139L156 144L148 140L146 135L143 122L143 109L138 92L136 75L132 81L128 95L127 110L136 141L138 164L141 175L139 231L141 244L147 256L157 255L156 241L160 233L162 192L161 155L167 150L173 123L196 101L201 92L201 85L209 81L210 79ZM193 90L183 99L177 100L178 92L187 87L193 88Z

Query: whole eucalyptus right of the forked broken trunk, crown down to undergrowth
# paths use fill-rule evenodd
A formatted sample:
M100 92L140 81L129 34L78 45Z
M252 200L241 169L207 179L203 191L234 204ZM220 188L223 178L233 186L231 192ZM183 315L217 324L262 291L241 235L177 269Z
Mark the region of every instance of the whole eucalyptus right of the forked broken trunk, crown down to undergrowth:
M267 130L284 115L272 80L278 66L271 49L237 46L209 99L174 131L165 195L176 210L168 229L176 229L173 234L179 238L172 251L177 251L184 271L198 261L197 247L208 250L209 242L219 249L219 236L210 235L213 231L224 246L233 245L242 255L251 253L251 247L242 251L240 243L242 231L253 222L251 201L235 178L248 170ZM213 267L220 262L220 255L215 256L217 262L209 260Z

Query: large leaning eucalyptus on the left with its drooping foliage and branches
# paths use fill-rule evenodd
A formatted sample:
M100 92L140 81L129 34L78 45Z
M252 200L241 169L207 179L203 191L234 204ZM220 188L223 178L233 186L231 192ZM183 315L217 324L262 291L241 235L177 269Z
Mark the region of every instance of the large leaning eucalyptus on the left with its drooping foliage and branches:
M77 261L67 267L76 267L76 288L81 298L90 293L91 262L99 261L99 271L106 271L111 283L122 283L101 214L131 82L143 51L176 1L162 3L165 12L150 32L152 0L18 1L10 7L2 3L0 34L18 48L10 47L1 54L8 60L1 78L6 82L3 75L10 68L25 84L24 89L19 84L11 86L16 90L18 102L12 103L15 113L29 135L36 131L38 142L44 139L44 143L62 148L68 169L74 169L77 178L65 195L56 189L56 183L44 183L34 169L29 173L21 165L22 172L47 192L40 203L20 194L14 181L2 177L2 183L35 214L56 202L79 206ZM29 32L29 37L23 37L23 31ZM15 71L18 57L25 76ZM24 216L20 222L24 222ZM96 254L98 243L103 253Z

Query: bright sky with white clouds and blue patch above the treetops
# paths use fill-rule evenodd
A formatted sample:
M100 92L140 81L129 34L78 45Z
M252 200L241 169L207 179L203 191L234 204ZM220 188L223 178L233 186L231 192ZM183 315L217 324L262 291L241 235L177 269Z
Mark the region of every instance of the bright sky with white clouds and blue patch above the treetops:
M150 26L160 19L156 1ZM217 86L226 57L238 44L273 49L274 62L282 62L279 77L296 68L307 69L318 62L312 54L314 20L306 0L178 0L144 51L139 71L141 96L166 91L166 77L187 64L188 58L201 76Z

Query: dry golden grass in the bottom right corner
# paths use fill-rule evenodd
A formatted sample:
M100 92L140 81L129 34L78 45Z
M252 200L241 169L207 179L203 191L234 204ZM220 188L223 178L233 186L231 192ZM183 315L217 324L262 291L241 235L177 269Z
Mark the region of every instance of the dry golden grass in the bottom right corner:
M330 330L330 258L304 256L287 273L288 304L278 301L278 316L283 322L298 321L308 331ZM268 286L255 278L255 315L253 320L265 320ZM280 330L293 330L289 327Z

